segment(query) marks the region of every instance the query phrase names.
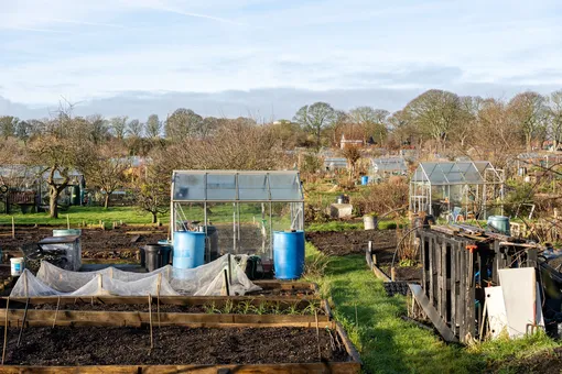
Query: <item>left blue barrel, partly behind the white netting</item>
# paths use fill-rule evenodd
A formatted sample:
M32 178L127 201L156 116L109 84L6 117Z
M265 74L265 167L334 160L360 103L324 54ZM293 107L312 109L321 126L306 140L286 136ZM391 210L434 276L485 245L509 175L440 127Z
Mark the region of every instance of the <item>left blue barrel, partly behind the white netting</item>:
M174 258L176 268L194 268L205 263L205 233L196 231L174 232Z

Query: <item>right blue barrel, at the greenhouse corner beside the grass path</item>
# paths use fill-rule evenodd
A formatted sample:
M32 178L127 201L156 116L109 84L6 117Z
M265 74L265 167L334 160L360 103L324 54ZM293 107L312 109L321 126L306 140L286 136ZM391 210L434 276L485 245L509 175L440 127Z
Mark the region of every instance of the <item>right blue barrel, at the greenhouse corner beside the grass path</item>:
M298 279L304 271L304 231L273 232L275 278Z

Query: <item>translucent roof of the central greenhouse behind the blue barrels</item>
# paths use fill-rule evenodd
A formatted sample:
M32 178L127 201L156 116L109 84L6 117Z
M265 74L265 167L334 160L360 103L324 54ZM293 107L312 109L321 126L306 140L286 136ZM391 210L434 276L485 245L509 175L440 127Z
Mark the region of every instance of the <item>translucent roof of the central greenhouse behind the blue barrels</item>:
M304 201L295 170L174 170L173 201Z

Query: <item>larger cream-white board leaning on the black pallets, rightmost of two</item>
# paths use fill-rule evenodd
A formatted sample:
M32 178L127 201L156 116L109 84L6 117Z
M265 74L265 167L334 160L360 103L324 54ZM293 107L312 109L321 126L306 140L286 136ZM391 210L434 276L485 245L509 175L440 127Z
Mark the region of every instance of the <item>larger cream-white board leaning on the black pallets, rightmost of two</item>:
M498 273L507 312L509 337L522 337L527 331L527 324L537 323L538 295L534 268L502 268Z

